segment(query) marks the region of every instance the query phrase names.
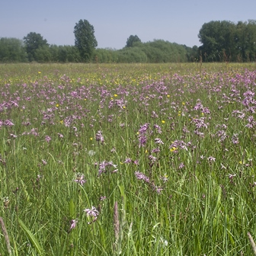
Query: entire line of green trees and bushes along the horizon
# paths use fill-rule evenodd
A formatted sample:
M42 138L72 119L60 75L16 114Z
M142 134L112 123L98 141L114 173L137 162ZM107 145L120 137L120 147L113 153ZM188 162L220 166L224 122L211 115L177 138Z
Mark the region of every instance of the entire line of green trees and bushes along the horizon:
M75 45L56 46L30 32L23 40L0 38L0 62L248 62L256 59L256 21L210 21L198 37L201 46L165 40L142 43L130 35L121 50L97 48L94 27L87 20L75 24Z

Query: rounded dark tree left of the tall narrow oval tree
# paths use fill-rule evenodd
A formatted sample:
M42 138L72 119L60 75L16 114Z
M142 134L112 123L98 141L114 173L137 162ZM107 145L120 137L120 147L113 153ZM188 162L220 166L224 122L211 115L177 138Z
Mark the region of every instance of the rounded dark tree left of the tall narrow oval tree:
M30 32L29 34L27 34L27 37L24 37L23 39L26 46L29 61L36 60L35 52L38 48L43 46L49 46L47 40L43 39L43 37L40 34L37 34L35 32Z

